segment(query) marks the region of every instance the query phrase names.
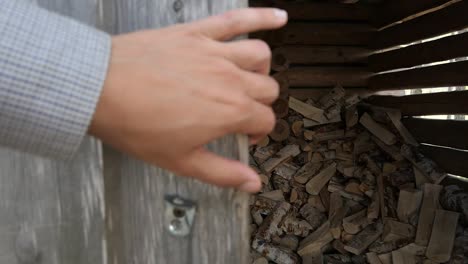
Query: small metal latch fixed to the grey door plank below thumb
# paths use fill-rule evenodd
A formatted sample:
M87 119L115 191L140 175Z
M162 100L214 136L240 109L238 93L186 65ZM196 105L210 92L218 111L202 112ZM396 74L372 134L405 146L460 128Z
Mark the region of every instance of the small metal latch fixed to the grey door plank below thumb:
M166 195L165 226L175 236L190 234L195 218L196 204L178 195Z

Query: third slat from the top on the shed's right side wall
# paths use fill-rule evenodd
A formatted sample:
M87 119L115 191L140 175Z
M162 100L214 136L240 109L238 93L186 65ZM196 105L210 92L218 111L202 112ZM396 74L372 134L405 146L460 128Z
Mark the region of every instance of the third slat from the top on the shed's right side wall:
M449 36L372 55L369 63L376 72L409 68L421 64L468 57L468 33Z

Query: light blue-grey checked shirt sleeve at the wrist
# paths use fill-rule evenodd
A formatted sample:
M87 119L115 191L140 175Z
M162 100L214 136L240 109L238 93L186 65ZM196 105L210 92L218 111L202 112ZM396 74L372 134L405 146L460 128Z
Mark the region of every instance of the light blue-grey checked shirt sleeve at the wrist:
M70 158L91 122L110 50L103 32L0 0L0 145Z

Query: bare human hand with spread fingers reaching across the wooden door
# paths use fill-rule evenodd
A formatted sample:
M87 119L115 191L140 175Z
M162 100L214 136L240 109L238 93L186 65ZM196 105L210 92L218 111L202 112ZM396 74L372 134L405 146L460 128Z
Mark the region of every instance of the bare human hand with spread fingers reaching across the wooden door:
M286 20L278 9L247 8L114 37L90 134L177 174L258 191L255 171L204 145L232 133L255 142L272 130L279 88L268 76L268 46L223 41Z

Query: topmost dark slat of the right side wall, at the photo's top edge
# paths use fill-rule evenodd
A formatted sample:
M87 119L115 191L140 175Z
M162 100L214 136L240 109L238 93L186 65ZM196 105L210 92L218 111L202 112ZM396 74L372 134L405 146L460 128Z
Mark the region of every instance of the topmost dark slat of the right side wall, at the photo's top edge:
M386 26L419 12L443 5L450 0L391 0L384 1L374 16L376 26Z

